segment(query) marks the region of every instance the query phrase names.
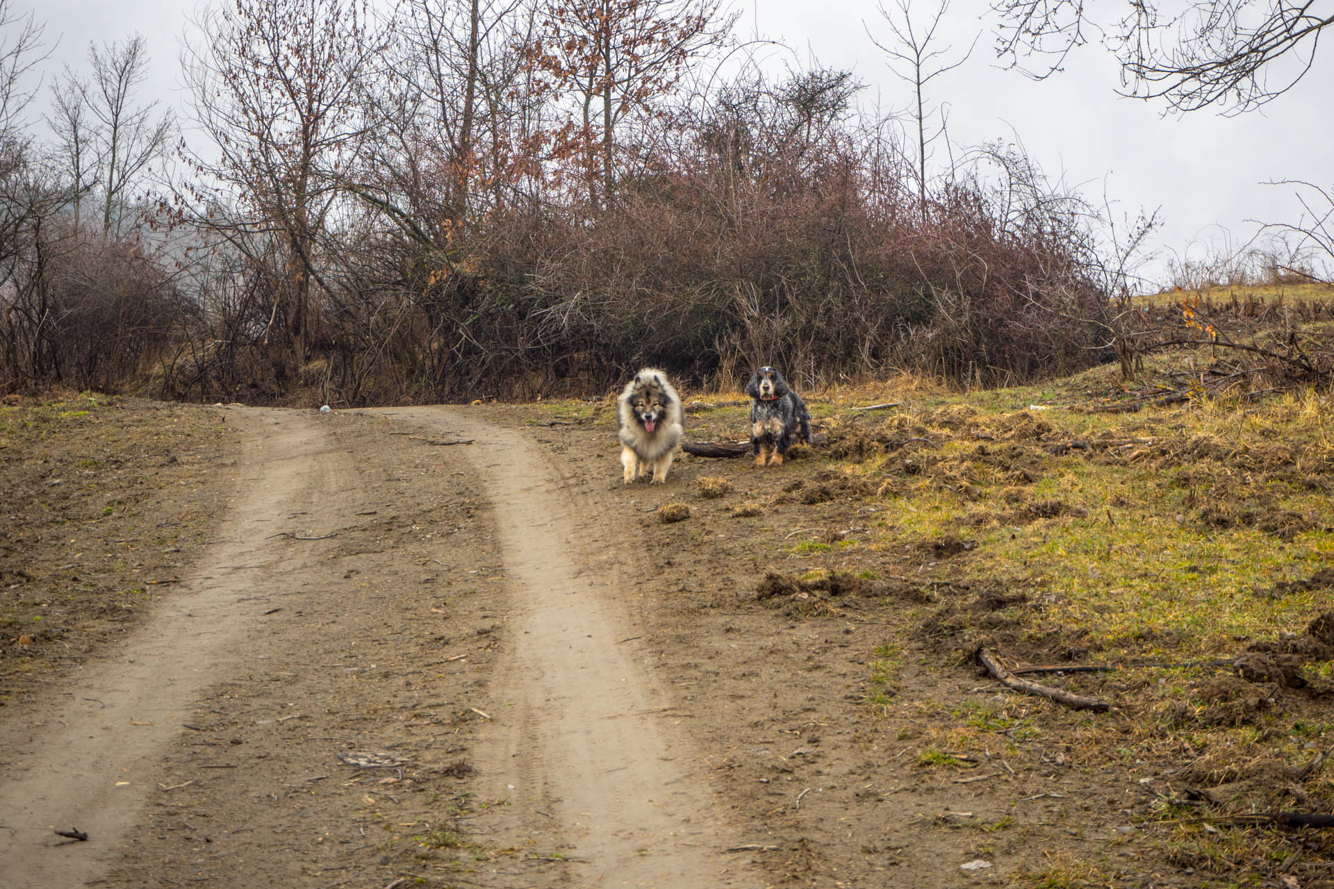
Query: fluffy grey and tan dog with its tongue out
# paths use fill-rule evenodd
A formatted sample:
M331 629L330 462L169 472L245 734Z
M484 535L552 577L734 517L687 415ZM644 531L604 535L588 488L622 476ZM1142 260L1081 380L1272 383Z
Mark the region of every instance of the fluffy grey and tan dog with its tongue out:
M686 412L667 375L655 368L636 373L616 399L616 417L626 484L643 476L650 466L652 484L667 481L667 470L686 435Z

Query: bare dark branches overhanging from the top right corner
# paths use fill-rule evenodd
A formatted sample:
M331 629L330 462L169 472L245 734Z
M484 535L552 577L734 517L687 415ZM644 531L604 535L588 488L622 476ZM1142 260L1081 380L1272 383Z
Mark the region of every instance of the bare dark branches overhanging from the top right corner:
M1126 0L1119 16L1094 19L1085 0L995 0L998 52L1045 57L1046 77L1075 47L1101 40L1122 67L1127 95L1177 111L1239 113L1295 85L1311 69L1329 0Z

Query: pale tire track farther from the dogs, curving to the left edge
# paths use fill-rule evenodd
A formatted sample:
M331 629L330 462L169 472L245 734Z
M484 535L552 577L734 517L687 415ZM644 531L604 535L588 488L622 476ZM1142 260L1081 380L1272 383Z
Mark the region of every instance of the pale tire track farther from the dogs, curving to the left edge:
M293 557L275 540L338 494L346 454L289 411L228 415L247 435L236 469L237 500L183 588L148 622L67 681L65 702L11 720L0 732L0 862L8 888L77 886L113 864L153 789L152 766L181 732L199 693L257 624L257 596L284 574L323 557L313 541ZM338 510L331 510L334 520ZM297 521L292 521L300 517ZM325 518L324 521L328 521ZM73 826L89 842L63 842Z

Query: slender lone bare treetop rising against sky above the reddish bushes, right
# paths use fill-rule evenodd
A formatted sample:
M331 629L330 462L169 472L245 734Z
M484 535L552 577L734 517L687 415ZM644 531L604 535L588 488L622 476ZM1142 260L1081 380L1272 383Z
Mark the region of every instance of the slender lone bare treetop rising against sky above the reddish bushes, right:
M939 139L944 132L944 120L942 116L939 128L931 136L927 136L927 117L938 113L939 107L927 107L926 85L967 61L968 56L972 55L972 47L970 45L967 52L951 61L950 47L935 48L932 45L936 43L936 29L950 9L950 0L940 0L940 5L928 13L922 24L915 23L912 19L911 0L894 0L894 9L886 9L884 4L878 7L880 16L890 27L890 33L894 35L894 43L880 43L874 35L871 36L871 41L888 56L888 67L894 72L894 76L912 87L912 119L916 121L918 131L918 197L922 219L926 220L927 145ZM870 35L870 28L867 28L867 33ZM972 45L976 45L976 37L974 37Z

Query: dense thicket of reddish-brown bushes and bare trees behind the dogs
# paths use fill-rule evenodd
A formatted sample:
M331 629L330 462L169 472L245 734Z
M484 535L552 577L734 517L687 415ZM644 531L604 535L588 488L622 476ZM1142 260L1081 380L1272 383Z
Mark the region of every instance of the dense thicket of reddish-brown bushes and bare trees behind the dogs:
M687 88L727 43L716 4L400 16L207 13L185 79L211 141L103 220L77 221L105 187L52 160L68 140L15 131L0 388L355 405L604 392L646 363L986 385L1115 356L1125 256L1078 196L999 148L922 183L844 72Z

